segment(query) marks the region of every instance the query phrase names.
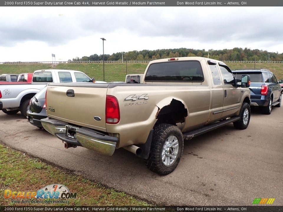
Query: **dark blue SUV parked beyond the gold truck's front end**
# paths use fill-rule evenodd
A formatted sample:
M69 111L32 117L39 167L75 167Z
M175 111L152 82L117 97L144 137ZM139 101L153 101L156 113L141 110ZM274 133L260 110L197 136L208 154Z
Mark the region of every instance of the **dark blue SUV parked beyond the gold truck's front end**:
M274 74L266 69L236 69L232 70L236 79L243 74L251 77L251 106L259 106L264 114L270 114L272 107L281 106L281 86Z

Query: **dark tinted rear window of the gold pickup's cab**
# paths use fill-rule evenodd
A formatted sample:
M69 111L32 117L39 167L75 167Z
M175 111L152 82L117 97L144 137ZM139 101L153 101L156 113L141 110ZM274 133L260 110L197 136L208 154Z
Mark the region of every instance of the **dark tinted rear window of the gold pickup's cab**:
M203 70L198 61L153 63L149 66L145 81L203 82Z

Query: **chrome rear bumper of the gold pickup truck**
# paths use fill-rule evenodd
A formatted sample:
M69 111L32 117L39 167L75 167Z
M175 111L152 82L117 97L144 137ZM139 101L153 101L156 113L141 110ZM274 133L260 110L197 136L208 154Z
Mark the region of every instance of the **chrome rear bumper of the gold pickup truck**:
M41 120L42 126L52 135L57 136L62 141L75 146L82 146L103 155L113 155L118 138L104 134L97 130L86 127L76 129L76 139L66 136L67 122L47 117Z

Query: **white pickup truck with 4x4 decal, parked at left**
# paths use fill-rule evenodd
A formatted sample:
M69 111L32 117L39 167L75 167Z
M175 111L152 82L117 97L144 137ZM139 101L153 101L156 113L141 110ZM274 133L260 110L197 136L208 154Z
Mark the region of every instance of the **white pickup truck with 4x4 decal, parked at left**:
M0 85L0 110L6 114L21 111L27 116L29 100L50 82L93 82L86 74L74 70L46 69L33 74L31 84Z

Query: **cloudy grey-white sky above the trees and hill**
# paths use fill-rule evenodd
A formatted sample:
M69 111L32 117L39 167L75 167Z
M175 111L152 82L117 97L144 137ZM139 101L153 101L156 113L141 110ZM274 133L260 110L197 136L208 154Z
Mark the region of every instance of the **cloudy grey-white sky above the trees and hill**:
M0 62L143 49L283 52L283 7L1 7Z

